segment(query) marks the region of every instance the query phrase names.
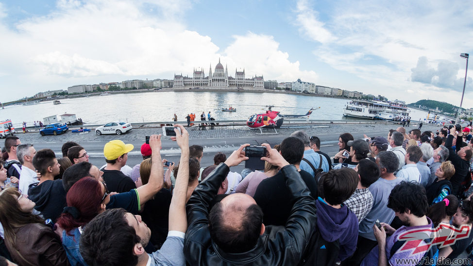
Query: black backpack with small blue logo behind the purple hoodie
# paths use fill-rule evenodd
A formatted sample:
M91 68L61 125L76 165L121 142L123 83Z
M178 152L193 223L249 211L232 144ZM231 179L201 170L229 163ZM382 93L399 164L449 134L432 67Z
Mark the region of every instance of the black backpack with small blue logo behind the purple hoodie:
M328 242L322 238L319 228L317 227L310 236L309 242L302 254L299 266L310 265L325 265L335 266L338 260L338 251L340 244L337 241Z

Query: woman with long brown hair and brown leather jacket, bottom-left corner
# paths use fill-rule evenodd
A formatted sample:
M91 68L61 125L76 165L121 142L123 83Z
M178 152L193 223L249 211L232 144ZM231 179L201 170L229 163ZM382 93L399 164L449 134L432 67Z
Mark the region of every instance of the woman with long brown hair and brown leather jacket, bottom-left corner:
M35 204L16 188L0 192L0 223L5 244L19 265L69 265L59 236L32 214Z

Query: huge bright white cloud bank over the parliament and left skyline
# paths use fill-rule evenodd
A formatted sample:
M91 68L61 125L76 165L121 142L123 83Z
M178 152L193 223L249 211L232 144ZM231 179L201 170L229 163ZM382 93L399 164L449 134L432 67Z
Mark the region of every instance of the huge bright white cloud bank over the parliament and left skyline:
M191 6L189 0L59 0L50 14L19 21L13 30L0 20L0 36L9 40L0 42L0 75L6 77L0 89L19 88L8 94L16 100L78 83L172 79L173 72L191 75L200 66L208 74L219 57L232 66L231 75L245 67L247 76L317 78L289 62L272 36L234 36L222 51L209 36L186 30L181 17Z

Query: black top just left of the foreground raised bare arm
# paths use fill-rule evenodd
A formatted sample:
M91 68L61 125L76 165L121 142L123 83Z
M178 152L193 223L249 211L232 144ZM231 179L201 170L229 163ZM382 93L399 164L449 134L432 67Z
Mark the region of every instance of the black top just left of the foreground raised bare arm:
M156 249L161 249L168 236L171 198L171 192L163 188L154 195L153 199L145 203L141 213L141 219L151 230L150 241Z

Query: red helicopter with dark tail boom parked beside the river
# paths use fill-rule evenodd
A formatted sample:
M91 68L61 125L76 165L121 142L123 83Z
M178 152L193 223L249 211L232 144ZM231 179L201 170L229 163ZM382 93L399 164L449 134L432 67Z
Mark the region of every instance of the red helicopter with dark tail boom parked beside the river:
M277 111L271 111L271 108L274 105L268 106L268 110L264 114L254 114L248 117L246 125L250 128L261 129L261 128L280 128L283 124L284 118L309 118L310 114L314 108L310 110L305 115L283 115ZM320 108L320 107L319 107Z

